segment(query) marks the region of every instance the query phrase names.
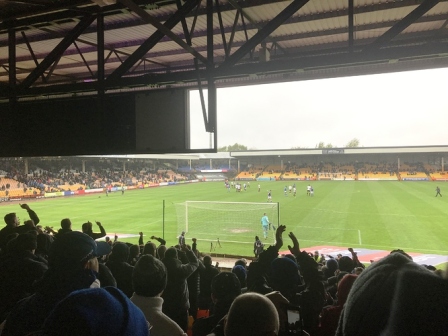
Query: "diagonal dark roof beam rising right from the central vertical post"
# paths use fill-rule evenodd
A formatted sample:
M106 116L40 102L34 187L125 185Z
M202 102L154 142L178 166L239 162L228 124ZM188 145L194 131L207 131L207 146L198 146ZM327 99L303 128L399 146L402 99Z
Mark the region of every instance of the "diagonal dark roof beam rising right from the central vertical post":
M282 25L288 18L302 8L308 0L294 0L284 10L282 10L275 18L268 22L261 28L254 36L252 36L247 43L241 46L237 51L230 55L227 60L221 64L219 69L225 69L235 65L242 57L244 57L250 50L255 48L270 34L272 34L280 25Z

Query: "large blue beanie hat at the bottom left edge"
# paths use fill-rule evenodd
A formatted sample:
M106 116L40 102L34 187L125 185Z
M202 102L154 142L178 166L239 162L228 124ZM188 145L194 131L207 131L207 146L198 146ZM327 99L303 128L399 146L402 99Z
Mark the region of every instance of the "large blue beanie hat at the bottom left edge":
M143 312L115 287L72 292L58 303L43 325L43 334L149 335Z

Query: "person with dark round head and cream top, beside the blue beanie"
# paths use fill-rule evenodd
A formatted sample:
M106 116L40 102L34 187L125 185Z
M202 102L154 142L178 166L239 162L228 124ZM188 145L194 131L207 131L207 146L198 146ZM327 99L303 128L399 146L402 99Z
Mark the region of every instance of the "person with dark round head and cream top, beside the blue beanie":
M131 301L151 323L151 335L186 335L176 322L162 312L161 295L167 284L167 270L160 260L152 255L143 255L134 267L132 282L135 292Z

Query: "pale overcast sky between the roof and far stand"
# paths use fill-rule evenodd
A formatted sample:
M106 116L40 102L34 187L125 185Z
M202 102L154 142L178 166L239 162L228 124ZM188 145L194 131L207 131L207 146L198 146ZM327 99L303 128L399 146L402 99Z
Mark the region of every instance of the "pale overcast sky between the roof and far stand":
M218 89L218 147L448 145L447 97L448 69ZM190 115L191 147L209 148L198 91Z

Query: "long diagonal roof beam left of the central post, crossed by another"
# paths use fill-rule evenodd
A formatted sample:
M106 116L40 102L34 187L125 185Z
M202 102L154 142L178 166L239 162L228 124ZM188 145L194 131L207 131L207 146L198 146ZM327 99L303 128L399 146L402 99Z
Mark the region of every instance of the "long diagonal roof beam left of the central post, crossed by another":
M173 29L196 5L198 0L189 0L185 2L182 8L176 11L164 24L164 29ZM146 13L146 12L145 12ZM145 54L151 50L159 41L165 36L165 34L157 30L154 32L140 47L130 55L122 65L120 65L115 71L109 75L106 81L118 80L123 76L137 61L145 56Z

